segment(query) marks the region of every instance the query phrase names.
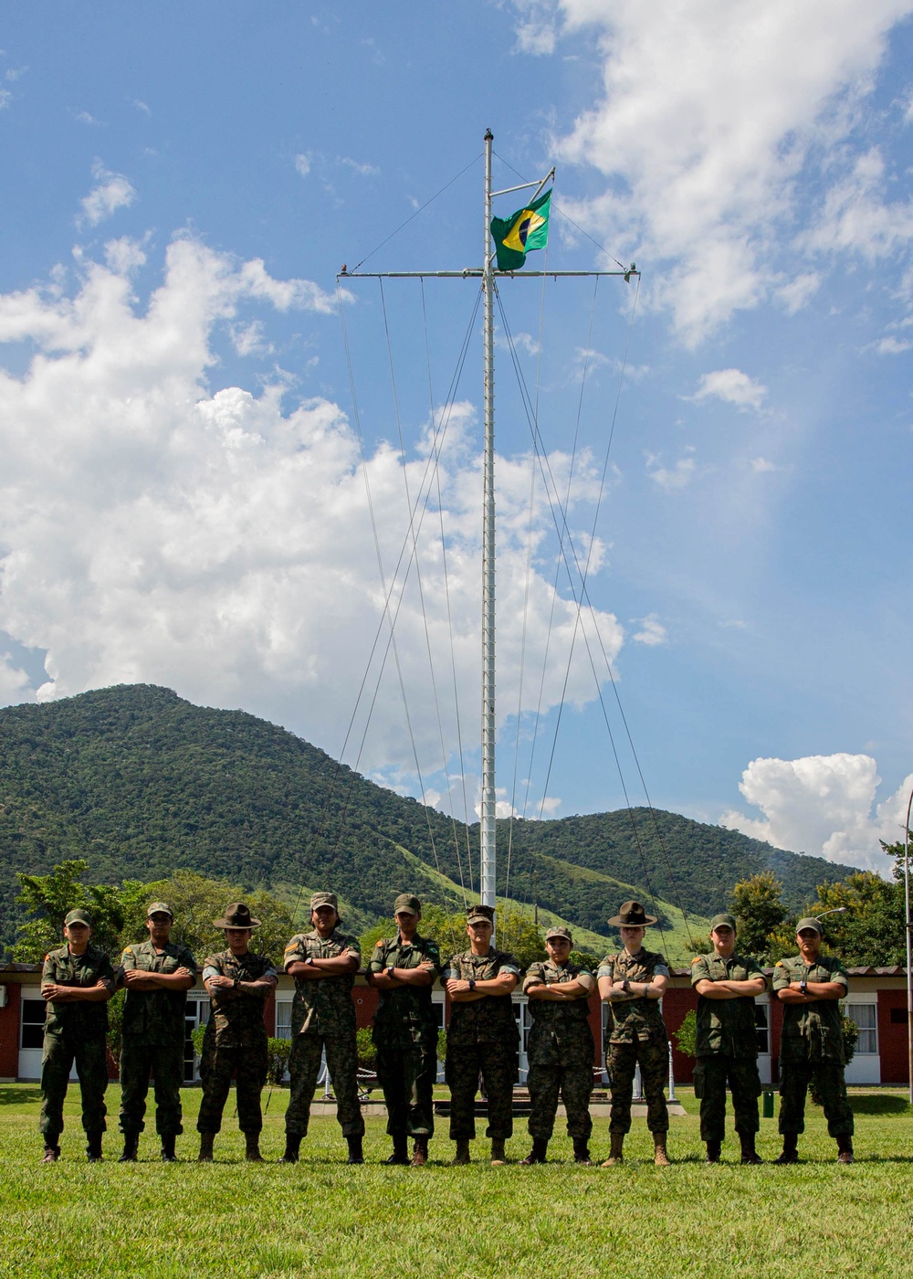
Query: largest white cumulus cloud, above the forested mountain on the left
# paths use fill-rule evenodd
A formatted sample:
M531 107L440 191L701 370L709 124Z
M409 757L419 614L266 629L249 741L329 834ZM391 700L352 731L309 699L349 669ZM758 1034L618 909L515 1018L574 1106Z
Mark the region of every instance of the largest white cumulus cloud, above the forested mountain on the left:
M423 769L441 762L428 646L444 664L435 678L445 738L455 747L455 709L446 701L453 650L463 732L474 746L481 615L474 407L455 405L445 434L441 422L428 423L404 463L386 444L362 457L344 413L327 399L286 407L284 384L257 394L242 386L212 390L207 376L217 336L234 335L252 350L266 335L251 320L254 304L320 315L329 299L309 281L274 280L260 261L239 263L184 237L168 247L164 279L141 310L128 274L136 253L115 243L106 265L83 261L73 295L59 283L0 295L0 341L35 349L24 373L0 370L0 629L46 651L47 678L36 696L161 683L198 702L243 706L339 753L353 691L368 661L368 689L386 663L359 767L395 784L414 774L385 632L371 657L386 605L409 673ZM564 492L570 457L554 453L549 467ZM526 590L529 469L529 458L499 459L501 721L518 710L524 643L527 669L546 664L552 614L543 707L560 701L577 622L573 601L555 593L551 563ZM592 501L598 467L578 455L575 476L579 500ZM423 605L405 481L418 510L412 530ZM433 501L422 518L430 492ZM549 536L547 503L537 509L538 547ZM596 542L592 570L601 556ZM598 625L614 661L623 641L616 619L597 613L583 624L591 640ZM593 696L579 633L574 651L568 697L579 705ZM14 669L0 680L6 697L29 696ZM522 710L535 710L537 698L537 682L527 680ZM363 728L361 718L355 746ZM350 744L349 762L354 753ZM431 781L440 792L440 780Z

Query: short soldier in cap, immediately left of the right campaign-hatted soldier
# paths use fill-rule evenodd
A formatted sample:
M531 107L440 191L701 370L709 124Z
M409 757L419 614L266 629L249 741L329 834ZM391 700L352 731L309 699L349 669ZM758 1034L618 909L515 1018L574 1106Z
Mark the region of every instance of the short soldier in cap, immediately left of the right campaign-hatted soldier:
M568 929L545 936L549 958L535 963L523 978L532 1027L527 1040L527 1087L532 1110L529 1136L533 1149L524 1164L543 1164L555 1127L558 1096L568 1114L568 1134L574 1142L574 1163L589 1164L589 1094L593 1091L593 1032L589 1030L589 995L596 980L586 968L569 963L573 939Z

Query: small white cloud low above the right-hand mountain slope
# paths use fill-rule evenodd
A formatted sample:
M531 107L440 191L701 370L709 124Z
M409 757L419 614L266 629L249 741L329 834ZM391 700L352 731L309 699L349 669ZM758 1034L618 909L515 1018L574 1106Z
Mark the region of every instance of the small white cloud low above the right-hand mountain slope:
M730 811L720 822L776 848L885 875L890 867L878 840L894 843L901 836L913 774L876 806L880 781L870 755L752 760L742 774L739 790L763 817Z

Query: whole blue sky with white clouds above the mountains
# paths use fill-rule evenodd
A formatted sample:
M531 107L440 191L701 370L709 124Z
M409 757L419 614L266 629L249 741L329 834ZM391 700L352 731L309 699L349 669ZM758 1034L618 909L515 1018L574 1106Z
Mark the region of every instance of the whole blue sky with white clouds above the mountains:
M568 665L499 317L504 811L643 802L605 654L655 804L884 868L913 784L912 12L5 5L0 698L148 680L334 756L354 710L347 762L472 811L474 285L349 281L349 367L335 276L477 265L491 127L497 185L558 168L549 265L643 271L501 288L595 610ZM375 532L402 586L426 482L407 720L370 661Z

